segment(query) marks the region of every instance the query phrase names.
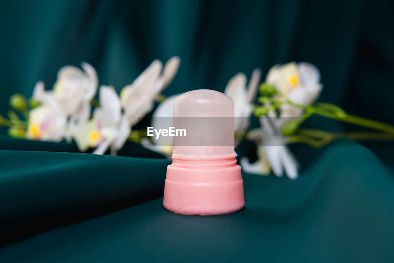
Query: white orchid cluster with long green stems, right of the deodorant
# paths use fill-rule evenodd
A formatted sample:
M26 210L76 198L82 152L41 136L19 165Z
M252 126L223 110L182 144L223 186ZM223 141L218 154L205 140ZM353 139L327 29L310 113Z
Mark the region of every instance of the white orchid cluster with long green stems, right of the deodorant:
M255 72L256 70L249 81L248 89L246 77L240 73L229 81L225 90L234 103L238 104L236 108L244 109L243 113L250 111L251 102L255 100ZM272 169L278 177L285 173L287 177L295 179L298 177L299 165L288 149L288 144L305 143L312 147L322 147L336 139L394 139L393 126L349 115L333 104L315 103L322 88L319 70L306 62L277 65L268 71L266 81L259 87L259 104L255 105L253 110L254 115L259 117L260 128L249 132L246 132L244 127L238 130L258 145L256 162L250 163L247 157L240 160L243 171L268 175ZM242 110L238 109L237 115L235 111L236 116L245 116L241 112ZM335 133L300 129L301 124L311 115L333 118L379 132Z

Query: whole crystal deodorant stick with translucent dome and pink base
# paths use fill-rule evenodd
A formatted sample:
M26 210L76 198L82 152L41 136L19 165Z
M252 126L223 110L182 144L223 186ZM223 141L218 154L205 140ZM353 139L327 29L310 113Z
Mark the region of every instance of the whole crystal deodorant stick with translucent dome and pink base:
M236 212L245 205L234 152L234 102L221 92L193 90L174 101L173 164L167 167L164 207L179 214Z

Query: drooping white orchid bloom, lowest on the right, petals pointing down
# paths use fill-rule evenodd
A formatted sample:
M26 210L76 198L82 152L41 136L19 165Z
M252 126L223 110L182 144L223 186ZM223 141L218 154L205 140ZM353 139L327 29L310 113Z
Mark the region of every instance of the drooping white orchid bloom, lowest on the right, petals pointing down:
M261 128L249 132L248 138L259 145L257 147L258 160L255 163L249 163L248 158L243 157L240 161L242 169L247 173L266 175L272 168L277 177L282 177L283 173L286 173L288 178L296 179L298 177L297 160L286 146L286 138L278 135L268 118L261 117Z

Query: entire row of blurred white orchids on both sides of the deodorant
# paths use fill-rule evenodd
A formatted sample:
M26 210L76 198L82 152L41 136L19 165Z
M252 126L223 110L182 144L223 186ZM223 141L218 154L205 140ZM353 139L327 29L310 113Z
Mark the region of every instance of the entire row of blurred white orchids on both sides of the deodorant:
M154 60L121 90L120 96L112 86L98 87L93 66L85 62L81 64L82 70L65 66L58 71L52 90L45 90L44 83L39 81L29 101L21 94L11 96L13 110L7 113L8 118L0 115L0 125L8 126L12 137L55 142L74 140L81 152L95 148L94 154L104 154L110 149L110 153L116 155L129 139L169 158L171 137L141 139L140 131L132 131L132 126L152 111L154 101L163 98L160 93L171 83L179 65L178 56L170 58L164 66L160 60ZM225 88L225 94L234 101L236 146L243 139L257 145L256 162L250 163L247 157L240 160L247 173L267 175L272 171L279 177L286 174L289 178L297 178L299 165L287 147L291 143L321 147L342 138L394 139L393 126L349 115L333 104L316 103L323 85L319 70L312 64L291 62L274 66L261 84L260 76L261 71L255 69L248 82L245 74L238 73ZM99 101L94 99L97 90ZM153 113L152 126L159 126L156 122L160 118L157 117L173 116L173 101L178 95L162 100ZM259 118L260 128L248 130L252 113ZM300 128L312 115L378 132L333 133Z

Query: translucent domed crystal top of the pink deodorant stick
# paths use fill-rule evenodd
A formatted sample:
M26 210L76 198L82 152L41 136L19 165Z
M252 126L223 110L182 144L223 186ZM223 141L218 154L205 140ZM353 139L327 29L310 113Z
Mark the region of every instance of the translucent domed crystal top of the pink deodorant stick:
M215 90L192 90L174 101L175 128L186 130L174 137L173 158L225 159L234 152L234 102Z

